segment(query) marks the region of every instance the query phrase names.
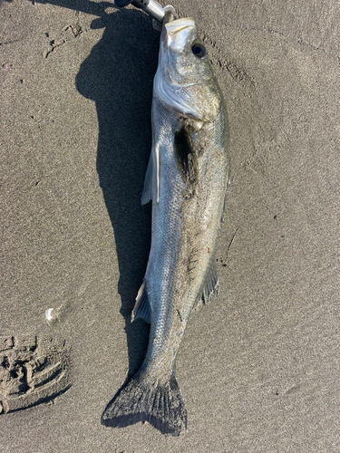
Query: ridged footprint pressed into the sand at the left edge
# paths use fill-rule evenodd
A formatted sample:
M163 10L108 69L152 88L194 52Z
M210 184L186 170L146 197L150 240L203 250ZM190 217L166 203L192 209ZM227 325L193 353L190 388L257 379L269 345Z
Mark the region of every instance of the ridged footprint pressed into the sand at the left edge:
M0 414L53 400L70 387L64 342L0 336Z

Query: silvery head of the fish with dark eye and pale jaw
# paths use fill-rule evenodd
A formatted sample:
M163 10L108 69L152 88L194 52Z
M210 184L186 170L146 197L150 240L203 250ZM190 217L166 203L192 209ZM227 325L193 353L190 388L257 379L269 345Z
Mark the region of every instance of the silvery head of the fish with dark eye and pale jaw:
M163 25L154 95L181 117L216 120L222 96L193 19Z

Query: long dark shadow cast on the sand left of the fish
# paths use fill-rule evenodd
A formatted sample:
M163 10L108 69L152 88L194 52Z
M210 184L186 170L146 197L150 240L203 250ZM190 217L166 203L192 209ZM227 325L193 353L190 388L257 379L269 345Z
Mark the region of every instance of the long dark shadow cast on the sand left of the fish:
M152 82L160 34L149 17L132 10L93 20L92 28L102 27L102 39L82 63L76 87L97 109L97 172L115 238L115 245L107 246L115 246L118 257L128 381L141 367L149 340L149 325L131 323L131 310L151 246L151 205L141 207L141 191L151 151Z

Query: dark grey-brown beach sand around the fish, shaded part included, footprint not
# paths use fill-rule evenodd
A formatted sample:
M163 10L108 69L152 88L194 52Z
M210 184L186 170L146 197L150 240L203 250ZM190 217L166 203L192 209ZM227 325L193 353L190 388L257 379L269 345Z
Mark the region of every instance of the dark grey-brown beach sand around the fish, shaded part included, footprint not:
M72 387L0 415L1 452L340 451L339 7L173 5L205 36L231 133L220 292L177 363L189 432L101 425L148 341L130 313L151 240L159 34L109 3L5 1L0 335L66 341Z

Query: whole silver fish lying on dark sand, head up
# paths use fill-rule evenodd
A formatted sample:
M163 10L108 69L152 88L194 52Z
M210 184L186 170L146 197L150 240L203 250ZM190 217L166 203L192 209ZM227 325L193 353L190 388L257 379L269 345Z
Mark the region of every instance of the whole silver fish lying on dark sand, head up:
M176 357L189 314L219 287L216 240L229 180L228 114L193 19L164 24L151 107L152 149L141 204L152 200L151 251L131 319L151 324L141 369L102 414L122 428L188 428Z

